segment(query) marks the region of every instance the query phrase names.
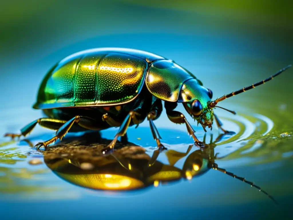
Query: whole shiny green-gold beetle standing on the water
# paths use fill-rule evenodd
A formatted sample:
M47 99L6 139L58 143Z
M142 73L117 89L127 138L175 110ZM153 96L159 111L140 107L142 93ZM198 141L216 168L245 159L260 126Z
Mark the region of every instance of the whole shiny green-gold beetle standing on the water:
M158 148L164 149L153 120L161 115L162 101L165 101L168 118L174 123L185 123L195 143L202 144L185 115L174 111L178 103L183 104L205 131L205 127L212 129L215 119L219 128L227 132L213 112L219 107L218 102L255 88L290 66L212 101L212 91L173 60L126 48L84 50L58 62L43 79L33 108L42 109L47 117L29 123L20 134L7 133L5 136L26 136L36 124L57 130L53 138L36 145L39 149L47 148L58 138L61 140L69 131L119 127L113 141L103 150L106 154L113 151L117 138L124 136L129 126L138 126L147 118Z

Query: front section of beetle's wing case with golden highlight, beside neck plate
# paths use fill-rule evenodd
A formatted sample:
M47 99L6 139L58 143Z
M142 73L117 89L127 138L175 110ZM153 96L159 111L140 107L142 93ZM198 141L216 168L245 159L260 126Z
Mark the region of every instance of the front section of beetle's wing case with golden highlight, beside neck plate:
M142 87L147 62L124 54L109 54L99 65L98 102L122 103L133 99Z

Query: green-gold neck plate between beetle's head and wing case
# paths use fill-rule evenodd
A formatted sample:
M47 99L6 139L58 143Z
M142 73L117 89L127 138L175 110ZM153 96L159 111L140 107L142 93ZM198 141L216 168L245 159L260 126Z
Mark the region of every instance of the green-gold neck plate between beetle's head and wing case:
M188 79L195 79L195 76L171 60L158 60L151 64L146 84L154 96L175 102L183 83Z

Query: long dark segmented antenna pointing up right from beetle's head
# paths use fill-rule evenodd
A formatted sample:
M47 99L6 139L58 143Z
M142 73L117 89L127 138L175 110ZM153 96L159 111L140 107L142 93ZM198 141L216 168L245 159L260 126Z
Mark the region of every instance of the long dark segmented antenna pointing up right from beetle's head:
M231 93L229 93L228 95L224 95L224 96L222 96L222 97L216 99L215 101L210 101L210 102L209 102L209 106L210 106L210 108L214 108L214 107L217 105L217 103L218 103L219 101L223 101L224 99L227 99L227 98L230 98L230 97L232 97L232 96L238 95L238 94L240 94L240 93L242 93L242 92L246 92L246 91L249 90L249 89L254 89L254 88L257 87L257 86L259 86L259 85L261 85L261 84L264 84L265 82L268 82L268 81L270 81L271 79L274 79L274 77L276 77L277 75L280 75L282 72L284 72L285 70L287 70L287 69L290 68L291 66L292 66L292 65L290 64L290 65L288 65L287 67L284 67L283 69L281 69L281 70L279 70L278 72L276 72L274 75L272 75L272 76L270 76L270 77L268 77L268 78L266 78L266 79L264 79L264 80L262 80L262 81L259 81L259 82L257 82L257 83L254 83L254 84L252 84L252 85L250 85L250 86L247 86L247 87L243 87L242 89L239 89L239 90L237 90L237 91L235 91L235 92L231 92Z

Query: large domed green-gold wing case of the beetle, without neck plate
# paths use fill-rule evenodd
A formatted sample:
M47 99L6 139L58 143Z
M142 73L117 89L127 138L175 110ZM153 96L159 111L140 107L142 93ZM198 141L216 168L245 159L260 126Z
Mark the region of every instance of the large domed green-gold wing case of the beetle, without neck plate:
M93 49L64 58L44 78L34 108L107 106L133 100L144 84L148 62L163 57L130 52Z

